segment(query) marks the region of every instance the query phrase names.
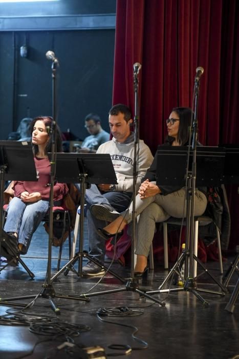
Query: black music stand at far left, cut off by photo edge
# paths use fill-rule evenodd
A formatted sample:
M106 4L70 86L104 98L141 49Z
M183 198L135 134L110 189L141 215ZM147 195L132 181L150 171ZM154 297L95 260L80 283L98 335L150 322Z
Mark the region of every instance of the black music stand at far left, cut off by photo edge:
M3 247L6 247L12 256L12 259L0 269L0 273L16 259L25 268L30 277L34 278L34 274L21 260L17 249L11 243L11 237L2 230L5 181L37 181L31 143L25 141L0 141L0 254L3 242Z

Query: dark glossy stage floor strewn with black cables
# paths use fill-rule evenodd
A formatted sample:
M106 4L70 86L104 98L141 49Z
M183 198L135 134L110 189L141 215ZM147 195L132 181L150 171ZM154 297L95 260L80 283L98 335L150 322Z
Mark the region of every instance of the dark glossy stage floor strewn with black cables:
M87 247L87 244L85 246ZM66 260L62 261L62 264L67 263L67 249L66 242L63 251L63 258ZM1 359L103 358L109 357L112 353L119 358L122 354L125 356L126 350L131 349L130 357L135 359L239 357L236 356L239 355L239 300L235 304L233 313L225 310L237 282L236 271L228 285L229 293L225 295L205 293L201 290L193 293L185 291L182 287L180 291L167 290L151 294L155 300L165 303L165 306L162 306L144 295L145 292L158 290L162 284L168 273L162 266L150 271L147 280L139 284L124 280L130 277L131 269L114 263L111 269L120 276L122 282L109 273L103 278L84 278L70 271L67 276L64 273L59 274L49 285L49 278L56 272L57 252L58 249L53 248L51 276L47 276L46 281L48 236L40 225L28 254L22 256L35 274L34 280L21 265L7 267L1 272L2 298L31 297L24 300L15 299L9 301L9 305L0 306ZM225 270L233 261L233 256L227 260L224 263ZM76 271L77 265L78 262L75 265ZM213 278L222 283L219 264L209 262L206 267ZM170 282L167 281L165 289L169 286L171 289L180 288ZM46 288L42 287L44 283L47 283ZM197 281L197 286L207 291L221 291L205 272ZM52 291L50 298L49 291ZM51 304L53 291L56 293L54 303L60 309L60 315L53 311ZM105 291L110 292L105 293ZM37 294L40 296L35 297ZM83 300L83 294L86 294L85 297L89 301ZM200 294L202 300L196 294ZM58 297L67 295L77 296L78 299ZM208 306L203 303L204 300L209 303ZM29 303L32 303L31 306L24 309L24 305ZM19 304L23 306L20 307ZM112 316L113 313L115 316ZM13 314L22 314L21 324L19 317L14 317ZM6 321L7 318L11 319ZM76 332L79 335L76 335ZM63 345L61 349L59 346L67 341L67 346ZM120 347L109 348L113 344ZM73 346L69 347L69 345ZM95 346L99 346L101 354L98 352L93 356L89 353L89 349L85 349Z

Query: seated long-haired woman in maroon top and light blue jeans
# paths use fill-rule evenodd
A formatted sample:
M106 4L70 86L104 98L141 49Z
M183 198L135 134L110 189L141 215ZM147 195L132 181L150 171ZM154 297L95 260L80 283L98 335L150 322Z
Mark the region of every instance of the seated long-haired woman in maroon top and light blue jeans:
M14 197L7 209L4 231L15 240L18 251L22 254L27 253L33 233L49 210L51 164L47 153L51 152L52 139L48 129L51 128L52 121L50 116L38 116L32 120L30 133L38 180L14 182ZM55 130L56 151L62 152L61 134L57 125ZM54 204L60 205L67 193L66 184L54 183Z

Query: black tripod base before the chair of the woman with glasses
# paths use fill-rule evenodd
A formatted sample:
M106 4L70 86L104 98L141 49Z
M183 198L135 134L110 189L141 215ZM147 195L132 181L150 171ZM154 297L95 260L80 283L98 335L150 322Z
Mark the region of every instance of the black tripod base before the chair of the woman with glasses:
M158 290L153 290L153 291L148 291L146 293L147 294L158 294L158 293L168 293L168 292L174 292L174 291L187 291L187 292L191 292L192 294L194 294L203 303L203 305L205 305L205 306L208 306L209 303L207 301L205 301L205 299L197 291L202 291L202 292L205 292L205 293L225 295L225 293L227 293L226 287L224 287L221 283L219 283L213 277L213 275L207 270L207 268L203 265L203 263L199 260L199 258L196 257L194 254L193 254L193 259L195 261L197 261L197 263L204 269L204 272L206 272L212 278L212 280L222 289L222 292L212 291L212 290L202 289L202 288L197 288L197 286L195 284L195 279L190 278L190 277L187 277L186 280L184 280L184 278L182 278L183 281L184 281L184 287L183 288L163 289L164 285L168 282L168 280L173 275L175 275L176 273L178 275L180 275L180 268L182 268L182 265L187 260L188 256L189 256L189 251L184 250L182 252L182 254L180 255L180 257L179 257L178 261L176 262L176 264L172 267L171 271L166 276L165 280L163 281L163 283L161 284L159 289Z

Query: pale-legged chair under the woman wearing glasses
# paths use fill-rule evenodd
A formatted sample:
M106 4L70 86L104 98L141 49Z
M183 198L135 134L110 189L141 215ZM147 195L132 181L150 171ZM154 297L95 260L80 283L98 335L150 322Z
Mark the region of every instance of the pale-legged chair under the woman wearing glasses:
M213 223L212 218L208 216L195 216L194 217L194 248L193 248L193 254L195 256L198 255L198 231L199 226L206 226L210 223ZM174 218L170 217L167 221L163 222L163 245L164 245L164 268L168 268L168 237L167 237L167 225L175 225L175 226L181 226L182 224L182 218ZM183 222L183 226L186 225L186 221ZM215 224L214 224L215 225ZM222 262L222 252L221 252L221 241L220 241L220 231L219 228L215 225L216 229L216 240L218 243L218 251L219 251L219 263L220 263L220 273L223 274L223 262ZM197 275L197 262L194 261L193 266L193 275Z

